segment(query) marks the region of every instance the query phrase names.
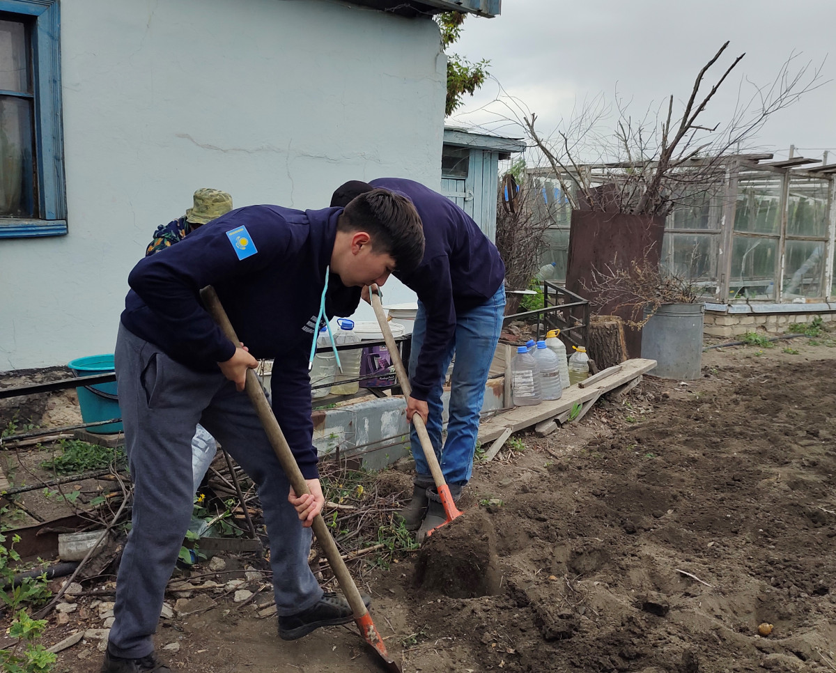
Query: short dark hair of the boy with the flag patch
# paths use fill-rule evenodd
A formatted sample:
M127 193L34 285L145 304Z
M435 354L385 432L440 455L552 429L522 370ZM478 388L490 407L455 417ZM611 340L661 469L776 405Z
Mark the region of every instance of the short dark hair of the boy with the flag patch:
M394 257L399 273L415 271L424 258L421 217L412 201L388 189L370 188L354 196L345 206L337 229L368 233L372 249Z

